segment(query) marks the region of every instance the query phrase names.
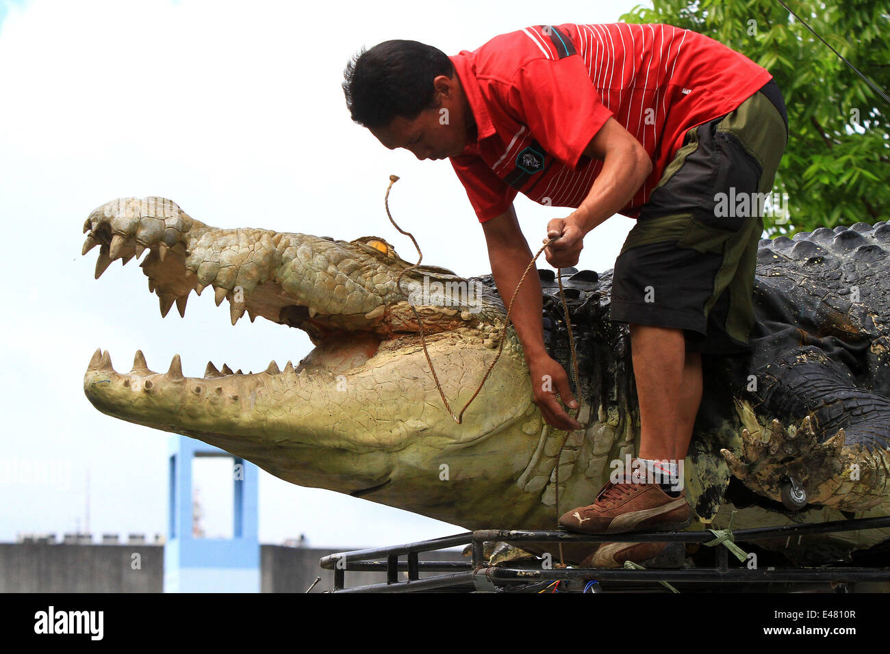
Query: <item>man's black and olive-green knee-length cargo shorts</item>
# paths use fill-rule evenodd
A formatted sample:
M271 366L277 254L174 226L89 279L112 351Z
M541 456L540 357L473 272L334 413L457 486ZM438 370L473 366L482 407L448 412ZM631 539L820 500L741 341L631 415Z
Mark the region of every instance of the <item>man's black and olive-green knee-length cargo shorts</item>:
M748 351L762 205L787 142L773 80L686 133L615 262L611 320L683 329L687 351Z

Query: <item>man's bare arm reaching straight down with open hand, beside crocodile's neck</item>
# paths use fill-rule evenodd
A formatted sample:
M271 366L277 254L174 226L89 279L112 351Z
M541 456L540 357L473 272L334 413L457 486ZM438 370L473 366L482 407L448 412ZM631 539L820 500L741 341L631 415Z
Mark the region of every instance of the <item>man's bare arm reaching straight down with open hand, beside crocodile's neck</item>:
M505 307L513 297L516 285L522 273L531 261L531 250L522 235L513 205L505 213L486 222L482 222L482 230L489 246L491 274L498 285L498 293ZM582 425L569 416L556 400L556 392L571 408L578 404L569 389L569 378L563 367L547 354L544 347L544 327L541 321L543 306L541 301L541 283L537 270L529 271L522 281L522 287L516 293L510 319L516 335L525 351L525 360L529 366L532 392L535 403L541 409L547 423L558 429L581 429ZM546 390L545 376L551 380Z

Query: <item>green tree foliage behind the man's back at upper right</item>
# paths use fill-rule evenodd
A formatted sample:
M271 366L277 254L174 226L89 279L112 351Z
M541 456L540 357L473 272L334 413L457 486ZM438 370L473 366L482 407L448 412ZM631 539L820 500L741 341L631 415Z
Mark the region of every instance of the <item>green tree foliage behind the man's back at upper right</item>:
M890 219L890 106L775 0L652 0L621 16L667 23L728 45L768 69L788 106L789 142L775 188L789 222L772 236ZM890 89L886 0L786 0L878 87Z

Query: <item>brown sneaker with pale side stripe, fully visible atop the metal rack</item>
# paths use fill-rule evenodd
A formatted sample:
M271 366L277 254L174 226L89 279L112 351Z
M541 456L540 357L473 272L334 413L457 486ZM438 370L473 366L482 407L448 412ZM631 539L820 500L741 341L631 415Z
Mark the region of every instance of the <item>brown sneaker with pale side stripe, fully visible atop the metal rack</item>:
M559 519L560 527L582 534L673 531L692 524L686 497L670 497L658 484L607 483L594 504L578 506Z

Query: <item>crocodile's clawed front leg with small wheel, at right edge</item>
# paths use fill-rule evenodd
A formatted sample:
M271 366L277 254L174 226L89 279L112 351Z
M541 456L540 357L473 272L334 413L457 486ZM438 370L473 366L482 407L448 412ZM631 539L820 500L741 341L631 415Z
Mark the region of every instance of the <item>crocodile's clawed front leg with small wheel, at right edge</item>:
M732 474L786 505L858 512L884 502L890 401L855 386L845 367L815 347L797 348L760 373L765 383L755 399L737 400L742 452L721 450Z

